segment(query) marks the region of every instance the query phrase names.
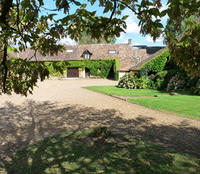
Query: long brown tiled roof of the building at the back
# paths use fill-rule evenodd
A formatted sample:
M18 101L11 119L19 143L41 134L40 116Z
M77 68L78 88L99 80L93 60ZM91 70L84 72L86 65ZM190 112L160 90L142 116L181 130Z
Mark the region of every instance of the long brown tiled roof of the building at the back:
M58 54L54 56L42 56L37 53L37 61L83 60L84 58L81 56L85 50L88 50L92 53L90 60L118 58L121 64L118 70L129 71L132 66L136 65L136 55L140 58L140 61L146 58L146 50L138 51L133 49L129 44L65 45L65 47L66 50L58 52ZM116 51L116 54L110 54L109 51ZM25 52L18 53L17 57L28 59L33 55L34 51L28 48ZM35 61L35 58L32 58L31 61Z

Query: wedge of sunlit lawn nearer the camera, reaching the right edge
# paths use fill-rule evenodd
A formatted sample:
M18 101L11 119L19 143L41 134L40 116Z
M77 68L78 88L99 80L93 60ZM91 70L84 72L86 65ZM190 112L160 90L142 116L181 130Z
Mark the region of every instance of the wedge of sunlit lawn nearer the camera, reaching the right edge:
M200 119L200 96L175 95L129 99L152 109L164 110L181 116Z

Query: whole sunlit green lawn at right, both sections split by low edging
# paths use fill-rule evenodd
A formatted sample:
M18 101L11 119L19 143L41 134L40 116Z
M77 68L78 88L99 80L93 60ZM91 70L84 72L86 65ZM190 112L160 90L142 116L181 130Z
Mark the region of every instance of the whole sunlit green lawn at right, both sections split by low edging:
M153 89L124 89L116 86L89 86L85 88L107 95L116 96L142 97L169 94L167 91L158 91ZM152 109L163 110L189 118L200 119L200 96L173 95L132 98L128 100Z

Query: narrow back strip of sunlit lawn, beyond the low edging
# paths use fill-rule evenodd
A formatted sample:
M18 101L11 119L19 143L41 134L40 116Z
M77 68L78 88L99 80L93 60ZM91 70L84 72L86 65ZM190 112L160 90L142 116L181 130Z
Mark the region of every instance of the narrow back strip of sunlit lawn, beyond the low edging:
M154 89L125 89L125 88L118 88L116 86L88 86L84 88L96 92L101 92L107 95L131 96L131 97L154 96L154 95L163 95L170 93L168 91L158 91Z

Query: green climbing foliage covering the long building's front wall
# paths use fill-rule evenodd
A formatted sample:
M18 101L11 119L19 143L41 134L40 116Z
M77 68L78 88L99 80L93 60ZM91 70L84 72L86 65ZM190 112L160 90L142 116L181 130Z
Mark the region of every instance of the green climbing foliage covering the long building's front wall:
M90 74L99 76L101 78L107 78L110 71L114 72L115 80L119 78L119 72L117 67L120 65L118 59L103 59L103 60L74 60L63 62L45 62L50 74L56 74L57 72L63 73L68 67L76 67L79 70L88 68Z

